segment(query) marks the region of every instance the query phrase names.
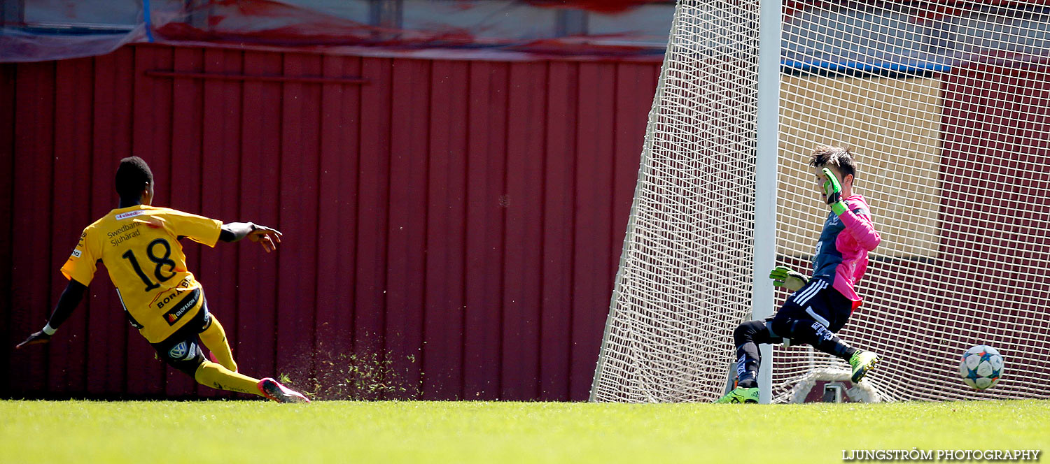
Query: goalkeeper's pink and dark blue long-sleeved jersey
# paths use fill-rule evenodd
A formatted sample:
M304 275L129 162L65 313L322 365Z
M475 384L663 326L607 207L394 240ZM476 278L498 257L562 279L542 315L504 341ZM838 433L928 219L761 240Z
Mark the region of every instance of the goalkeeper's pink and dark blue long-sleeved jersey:
M872 223L872 213L864 197L845 199L847 211L842 216L831 212L813 256L813 278L831 283L839 293L853 302L854 309L861 297L854 286L867 269L867 252L882 240Z

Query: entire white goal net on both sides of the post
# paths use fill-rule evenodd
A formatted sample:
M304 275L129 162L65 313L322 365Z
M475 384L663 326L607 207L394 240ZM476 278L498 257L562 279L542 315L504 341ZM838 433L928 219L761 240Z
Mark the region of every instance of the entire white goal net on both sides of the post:
M806 165L849 147L882 244L839 335L882 400L1050 397L1050 2L784 2L776 263L810 273ZM759 2L680 1L650 112L595 401L710 401L750 318ZM777 291L773 308L788 296ZM973 345L1004 378L960 380ZM763 362L770 362L763 359ZM774 401L846 364L775 347ZM793 392L793 389L796 392Z

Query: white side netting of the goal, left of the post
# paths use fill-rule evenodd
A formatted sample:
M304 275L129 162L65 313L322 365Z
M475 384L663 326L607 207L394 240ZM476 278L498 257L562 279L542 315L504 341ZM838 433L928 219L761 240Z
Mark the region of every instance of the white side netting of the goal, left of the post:
M751 311L758 1L680 2L649 114L598 401L722 389Z

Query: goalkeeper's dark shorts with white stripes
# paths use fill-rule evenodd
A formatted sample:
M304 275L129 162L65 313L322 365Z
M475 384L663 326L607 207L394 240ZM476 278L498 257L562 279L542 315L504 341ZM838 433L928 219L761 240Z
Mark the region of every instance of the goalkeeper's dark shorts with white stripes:
M849 299L839 293L831 283L813 279L804 287L792 293L780 310L766 317L765 322L766 326L770 326L769 323L775 319L816 321L834 333L842 329L852 313L853 302Z

